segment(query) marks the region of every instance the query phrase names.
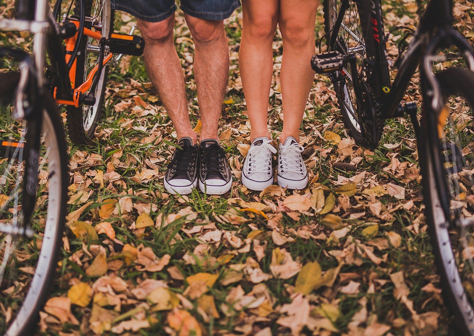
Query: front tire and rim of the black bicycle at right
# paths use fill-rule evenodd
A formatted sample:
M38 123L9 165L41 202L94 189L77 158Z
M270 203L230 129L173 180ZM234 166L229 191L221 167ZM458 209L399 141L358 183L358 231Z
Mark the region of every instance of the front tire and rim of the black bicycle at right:
M444 96L456 94L463 97L474 108L474 73L463 68L449 68L437 75L438 83ZM456 254L460 251L453 246L452 218L447 218L444 209L451 203L447 195L449 188L446 173L446 161L441 157L443 152L438 136L437 120L434 116L423 116L419 141L420 168L423 176L423 196L426 205L425 216L428 223L428 234L431 239L434 260L440 275L445 302L453 313L456 335L474 336L474 309L465 285L461 279ZM424 154L423 154L424 153ZM453 262L454 261L454 262Z

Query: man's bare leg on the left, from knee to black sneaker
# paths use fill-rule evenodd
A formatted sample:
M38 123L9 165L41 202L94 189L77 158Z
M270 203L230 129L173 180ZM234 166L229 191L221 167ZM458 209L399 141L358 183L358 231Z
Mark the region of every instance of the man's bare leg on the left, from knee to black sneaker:
M193 143L197 136L192 130L182 67L174 48L174 15L160 22L137 20L145 39L145 66L163 106L173 122L178 139L189 136ZM222 102L221 102L222 103Z

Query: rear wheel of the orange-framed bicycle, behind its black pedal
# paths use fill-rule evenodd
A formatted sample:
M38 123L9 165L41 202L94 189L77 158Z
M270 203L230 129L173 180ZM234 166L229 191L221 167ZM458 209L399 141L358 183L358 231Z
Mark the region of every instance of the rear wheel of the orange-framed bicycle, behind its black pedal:
M76 1L76 4L74 13L79 15L79 1ZM85 13L86 17L90 15L93 18L85 22L85 27L91 29L93 26L95 29L101 30L102 36L109 38L114 27L114 10L110 8L110 0L85 0ZM82 38L76 59L76 87L87 79L91 70L98 64L98 50L98 41L87 36ZM100 73L99 83L94 93L96 99L94 105L82 105L78 108L67 106L67 129L74 144L87 145L91 143L102 112L108 73L109 66L105 66ZM89 92L85 94L87 93Z

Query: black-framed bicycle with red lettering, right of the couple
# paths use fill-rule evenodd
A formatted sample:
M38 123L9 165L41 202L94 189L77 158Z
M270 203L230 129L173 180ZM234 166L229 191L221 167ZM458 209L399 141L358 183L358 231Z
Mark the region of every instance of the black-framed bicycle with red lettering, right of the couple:
M474 335L473 47L453 28L450 0L429 0L391 82L380 0L324 0L324 23L328 52L311 65L331 79L356 142L374 149L386 119L410 116L443 292L457 334ZM453 57L460 66L438 71ZM416 103L400 103L418 66L419 118Z

